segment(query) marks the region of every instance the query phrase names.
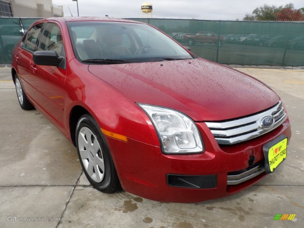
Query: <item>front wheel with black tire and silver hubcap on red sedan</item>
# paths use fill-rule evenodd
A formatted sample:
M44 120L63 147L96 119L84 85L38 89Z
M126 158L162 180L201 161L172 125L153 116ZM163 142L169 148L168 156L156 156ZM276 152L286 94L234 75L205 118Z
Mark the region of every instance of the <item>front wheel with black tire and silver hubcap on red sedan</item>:
M75 140L82 170L91 185L105 193L119 190L121 185L111 153L98 124L89 114L78 120Z

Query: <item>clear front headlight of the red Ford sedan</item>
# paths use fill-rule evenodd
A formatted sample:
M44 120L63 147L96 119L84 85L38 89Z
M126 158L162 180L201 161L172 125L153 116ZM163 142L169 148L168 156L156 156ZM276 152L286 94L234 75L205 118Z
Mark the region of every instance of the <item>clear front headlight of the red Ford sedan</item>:
M204 150L195 123L181 112L159 106L138 104L157 131L164 154L195 154Z

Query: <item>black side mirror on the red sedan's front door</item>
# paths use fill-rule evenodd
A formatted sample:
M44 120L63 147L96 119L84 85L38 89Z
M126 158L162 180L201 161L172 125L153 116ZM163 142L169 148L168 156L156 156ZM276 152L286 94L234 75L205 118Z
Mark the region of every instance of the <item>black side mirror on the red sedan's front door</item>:
M44 66L58 66L64 57L58 56L55 51L35 51L33 53L34 63Z

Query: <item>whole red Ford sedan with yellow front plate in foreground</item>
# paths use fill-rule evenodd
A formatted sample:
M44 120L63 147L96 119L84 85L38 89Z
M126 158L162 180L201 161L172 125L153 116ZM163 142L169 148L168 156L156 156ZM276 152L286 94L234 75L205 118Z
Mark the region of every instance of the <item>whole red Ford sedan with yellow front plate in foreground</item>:
M21 108L74 144L101 192L199 202L256 183L286 158L290 122L271 88L151 25L42 19L12 55Z

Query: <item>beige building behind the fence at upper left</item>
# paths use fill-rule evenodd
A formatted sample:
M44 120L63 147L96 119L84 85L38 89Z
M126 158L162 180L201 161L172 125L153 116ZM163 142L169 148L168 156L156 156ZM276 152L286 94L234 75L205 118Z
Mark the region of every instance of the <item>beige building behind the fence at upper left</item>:
M61 17L63 7L52 0L0 0L0 16Z

